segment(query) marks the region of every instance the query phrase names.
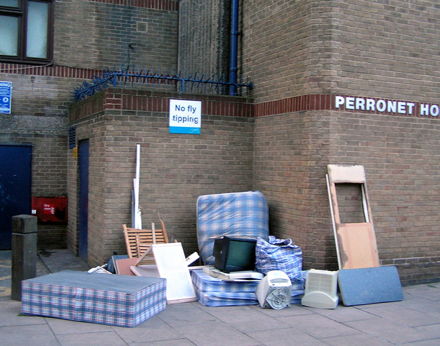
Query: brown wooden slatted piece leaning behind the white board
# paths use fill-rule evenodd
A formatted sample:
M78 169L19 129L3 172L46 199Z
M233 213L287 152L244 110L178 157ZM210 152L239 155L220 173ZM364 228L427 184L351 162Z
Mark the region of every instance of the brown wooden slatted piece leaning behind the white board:
M155 229L154 223L151 223L151 229L133 229L126 227L126 224L122 224L124 229L124 238L126 245L126 252L129 258L142 257L146 251L148 251L151 244L164 244L168 243L168 235L166 234L166 228L164 221L160 218L160 224L162 229ZM145 258L143 262L151 263L151 259Z

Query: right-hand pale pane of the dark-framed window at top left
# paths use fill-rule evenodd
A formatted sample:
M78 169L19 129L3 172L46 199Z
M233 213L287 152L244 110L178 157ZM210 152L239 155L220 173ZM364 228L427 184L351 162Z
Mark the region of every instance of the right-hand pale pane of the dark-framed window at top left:
M29 1L26 57L47 58L47 3Z

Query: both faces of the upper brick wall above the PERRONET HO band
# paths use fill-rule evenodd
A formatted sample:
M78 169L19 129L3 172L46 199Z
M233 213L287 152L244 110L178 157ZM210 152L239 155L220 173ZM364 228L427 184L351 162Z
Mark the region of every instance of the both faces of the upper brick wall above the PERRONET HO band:
M241 69L256 103L314 93L434 102L437 1L243 1Z

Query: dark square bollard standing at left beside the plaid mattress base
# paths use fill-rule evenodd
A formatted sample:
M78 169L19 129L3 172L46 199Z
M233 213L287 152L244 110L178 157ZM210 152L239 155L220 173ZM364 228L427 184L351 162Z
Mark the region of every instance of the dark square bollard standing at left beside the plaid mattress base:
M36 277L36 216L12 216L11 299L21 301L21 281Z

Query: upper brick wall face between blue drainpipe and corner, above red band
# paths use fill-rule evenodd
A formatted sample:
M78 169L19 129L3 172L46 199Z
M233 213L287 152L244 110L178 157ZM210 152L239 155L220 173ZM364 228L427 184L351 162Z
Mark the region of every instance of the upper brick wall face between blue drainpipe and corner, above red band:
M243 1L239 65L257 104L331 90L335 2Z

